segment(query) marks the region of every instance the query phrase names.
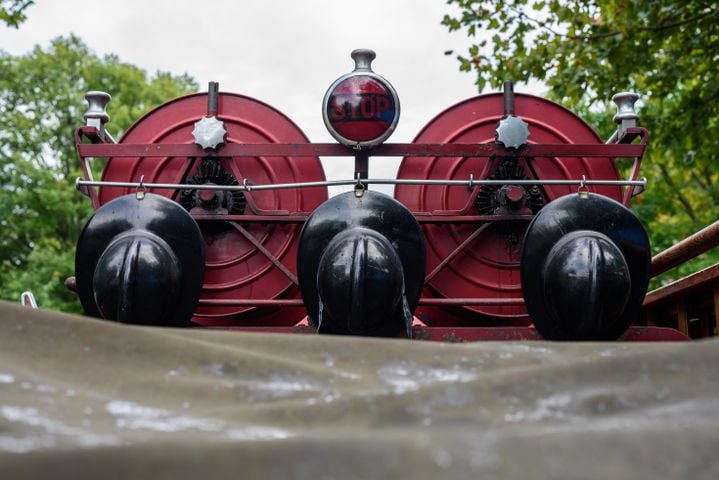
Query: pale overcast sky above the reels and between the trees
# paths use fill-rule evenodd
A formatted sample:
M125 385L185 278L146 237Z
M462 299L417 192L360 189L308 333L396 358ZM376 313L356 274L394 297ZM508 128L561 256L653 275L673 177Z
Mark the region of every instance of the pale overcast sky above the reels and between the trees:
M476 94L473 75L444 55L470 43L440 24L451 11L444 0L36 0L19 30L0 27L0 48L22 54L74 33L96 53L115 53L149 73L188 73L203 91L214 80L221 91L269 103L314 142L333 141L321 116L326 89L353 69L353 49L371 48L374 71L400 97L388 142L409 142L436 114ZM374 160L370 176L393 177L397 166ZM350 178L352 162L328 162L325 170L328 178Z

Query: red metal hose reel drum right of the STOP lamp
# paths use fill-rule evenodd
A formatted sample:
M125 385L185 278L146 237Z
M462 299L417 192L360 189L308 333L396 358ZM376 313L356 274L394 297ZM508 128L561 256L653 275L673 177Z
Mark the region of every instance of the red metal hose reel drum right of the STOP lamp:
M597 133L574 113L543 98L515 94L515 114L529 126L529 143L600 144ZM416 143L493 143L497 122L504 115L502 94L481 95L458 103L435 117L415 138ZM468 180L498 178L499 159L466 157L406 157L400 179ZM511 178L617 180L619 174L608 158L518 158L516 167L503 170ZM509 174L508 174L509 172ZM501 175L499 176L501 178ZM478 187L397 185L395 198L413 212L434 216L479 215ZM576 186L541 186L535 191L541 204L576 192ZM589 187L621 201L618 186ZM516 192L509 190L510 198ZM486 224L486 223L485 223ZM493 221L426 285L423 297L522 299L519 259L528 220ZM427 239L427 272L432 272L482 224L423 225ZM431 325L526 325L523 305L421 307L415 313Z

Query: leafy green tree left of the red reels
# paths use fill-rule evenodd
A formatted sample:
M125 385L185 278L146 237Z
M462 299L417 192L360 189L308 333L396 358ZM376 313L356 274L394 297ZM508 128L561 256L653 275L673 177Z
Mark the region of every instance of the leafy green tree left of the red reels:
M91 213L74 187L81 176L73 131L84 124L88 90L113 96L108 129L116 137L145 111L197 85L187 75L148 75L79 38L12 56L0 51L0 298L32 290L45 308L79 311L64 287L75 242Z

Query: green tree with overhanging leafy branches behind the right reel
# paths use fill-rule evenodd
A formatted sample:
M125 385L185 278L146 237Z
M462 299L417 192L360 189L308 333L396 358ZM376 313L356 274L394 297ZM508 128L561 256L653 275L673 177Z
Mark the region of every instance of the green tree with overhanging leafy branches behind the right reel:
M650 134L634 208L655 253L719 218L719 8L716 1L448 0L443 24L471 37L459 68L479 90L543 81L548 96L612 130L619 91L642 95ZM453 52L447 52L453 54ZM601 115L597 115L601 113ZM605 136L606 138L606 136ZM713 252L659 281L719 261Z

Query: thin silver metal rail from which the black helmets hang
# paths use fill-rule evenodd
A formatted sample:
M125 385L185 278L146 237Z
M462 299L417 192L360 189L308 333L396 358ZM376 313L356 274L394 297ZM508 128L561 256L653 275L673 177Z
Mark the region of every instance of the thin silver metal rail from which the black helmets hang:
M296 182L276 183L269 185L252 185L246 182L243 185L197 185L189 183L144 183L144 182L107 182L101 180L83 180L78 177L75 186L80 187L112 187L112 188L136 188L136 189L174 189L174 190L223 190L223 191L261 191L261 190L284 190L291 188L312 188L312 187L336 187L351 186L359 181L352 180L325 180L321 182ZM431 179L398 179L398 178L374 178L362 179L363 184L372 185L458 185L470 189L477 185L621 185L641 186L646 188L647 179L640 180L431 180Z

